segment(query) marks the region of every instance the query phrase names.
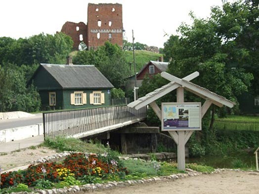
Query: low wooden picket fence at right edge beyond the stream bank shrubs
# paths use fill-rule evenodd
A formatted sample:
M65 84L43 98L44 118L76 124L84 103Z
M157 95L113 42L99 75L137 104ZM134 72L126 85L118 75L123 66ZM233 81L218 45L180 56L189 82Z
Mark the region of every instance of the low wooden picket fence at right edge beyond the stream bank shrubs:
M216 118L214 120L214 127L218 130L259 131L259 121Z

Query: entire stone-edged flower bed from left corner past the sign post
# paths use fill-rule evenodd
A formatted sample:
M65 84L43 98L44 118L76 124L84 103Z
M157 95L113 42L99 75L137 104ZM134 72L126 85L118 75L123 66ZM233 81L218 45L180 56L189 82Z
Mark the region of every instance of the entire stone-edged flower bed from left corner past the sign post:
M109 154L103 155L71 153L62 163L42 162L30 165L26 170L2 173L0 194L31 192L35 189L71 189L70 186L78 190L80 185L83 185L84 190L85 186L91 186L91 183L102 183L106 187L105 183L109 184L114 181L127 183L129 180L140 180L139 183L142 183L142 180L148 177L172 176L173 174L175 176L178 173L188 176L186 171L179 171L176 166L176 163L145 161L137 158L121 157L119 159L118 153L111 150ZM214 171L211 167L198 164L186 164L186 167L202 172ZM117 183L114 184L117 185Z

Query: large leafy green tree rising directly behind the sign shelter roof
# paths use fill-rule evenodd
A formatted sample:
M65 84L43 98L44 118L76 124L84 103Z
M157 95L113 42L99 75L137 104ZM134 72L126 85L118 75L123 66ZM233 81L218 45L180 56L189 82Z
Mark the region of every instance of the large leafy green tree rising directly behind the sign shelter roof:
M222 7L230 5L227 2ZM234 5L243 9L247 6L240 1ZM169 73L182 78L199 71L200 77L194 80L196 83L237 101L236 96L247 91L253 75L243 68L247 50L239 46L237 38L230 33L232 30L227 31L228 25L225 25L225 33L219 30L219 21L223 21L221 15L220 7L212 8L212 16L208 19L198 19L191 13L193 24L182 24L178 28L180 36L172 36L165 43L165 53L173 58ZM231 17L229 19L232 20ZM236 29L232 25L228 27Z

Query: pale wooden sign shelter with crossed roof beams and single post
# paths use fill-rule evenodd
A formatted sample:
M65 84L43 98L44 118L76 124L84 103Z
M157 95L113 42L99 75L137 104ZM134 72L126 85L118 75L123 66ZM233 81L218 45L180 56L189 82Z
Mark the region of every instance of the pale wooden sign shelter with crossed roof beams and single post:
M162 121L163 118L161 109L158 107L155 101L175 89L177 95L177 103L184 102L184 89L206 100L201 108L202 117L205 115L212 104L215 104L218 107L222 107L223 105L225 105L229 108L232 108L234 106L233 102L227 100L223 96L220 96L204 87L190 82L190 80L199 76L199 72L194 72L182 79L177 78L166 72L162 72L161 76L170 80L171 82L162 86L161 88L154 90L153 92L146 94L138 100L129 103L128 106L138 110L144 106L150 105L156 115ZM180 170L185 170L185 144L191 137L193 130L178 130L168 132L172 136L174 142L177 144L177 167Z

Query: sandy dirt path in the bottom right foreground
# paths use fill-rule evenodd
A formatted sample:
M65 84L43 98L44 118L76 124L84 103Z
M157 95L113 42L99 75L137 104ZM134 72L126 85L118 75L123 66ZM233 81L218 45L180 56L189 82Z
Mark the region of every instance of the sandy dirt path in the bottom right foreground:
M96 191L91 194L259 194L259 172L224 171L175 181Z

